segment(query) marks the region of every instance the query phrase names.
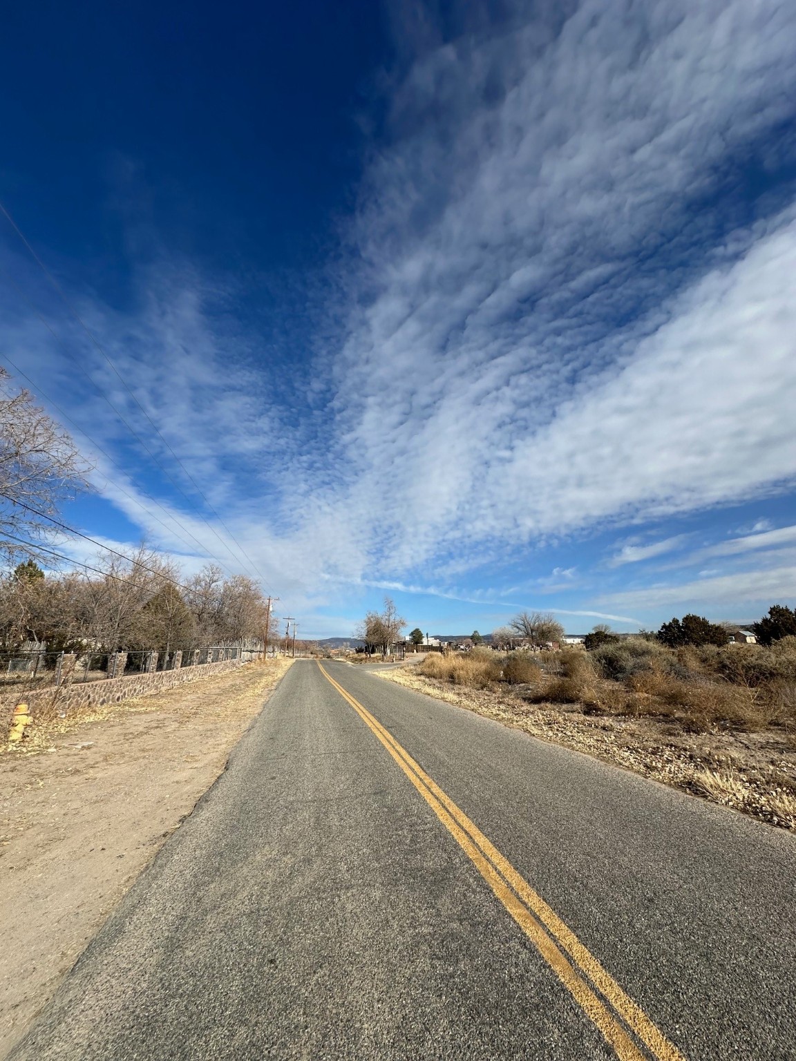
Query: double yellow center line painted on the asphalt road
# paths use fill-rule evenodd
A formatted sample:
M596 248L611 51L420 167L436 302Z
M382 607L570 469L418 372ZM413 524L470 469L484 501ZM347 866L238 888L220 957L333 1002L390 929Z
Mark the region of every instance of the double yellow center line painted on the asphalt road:
M651 1056L656 1061L685 1061L677 1047L669 1042L643 1010L625 994L555 910L548 906L467 815L418 766L392 733L346 692L322 664L318 666L324 677L384 745L621 1061L648 1061Z

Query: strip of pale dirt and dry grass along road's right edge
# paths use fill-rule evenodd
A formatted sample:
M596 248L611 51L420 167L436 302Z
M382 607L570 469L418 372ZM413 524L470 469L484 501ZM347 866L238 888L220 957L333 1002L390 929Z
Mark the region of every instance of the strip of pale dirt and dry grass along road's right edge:
M531 703L521 692L461 689L414 667L371 673L771 824L796 829L796 745L782 733L688 733L653 718L594 717L578 705Z

